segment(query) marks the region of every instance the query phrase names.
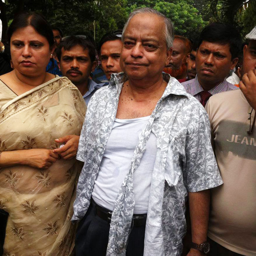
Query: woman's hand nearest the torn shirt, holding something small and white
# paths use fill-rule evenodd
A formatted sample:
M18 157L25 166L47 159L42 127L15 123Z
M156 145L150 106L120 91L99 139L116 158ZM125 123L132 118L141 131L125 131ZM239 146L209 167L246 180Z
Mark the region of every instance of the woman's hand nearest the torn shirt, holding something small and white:
M63 159L68 160L76 156L79 136L77 135L67 135L62 138L55 139L58 143L65 143L64 146L54 149L53 152L59 154Z

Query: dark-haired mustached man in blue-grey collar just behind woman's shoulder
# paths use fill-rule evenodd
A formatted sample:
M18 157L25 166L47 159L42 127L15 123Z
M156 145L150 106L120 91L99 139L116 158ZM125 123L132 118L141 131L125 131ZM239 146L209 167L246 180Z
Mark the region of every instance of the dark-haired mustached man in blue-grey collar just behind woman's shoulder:
M86 105L92 95L104 86L89 78L96 67L96 47L91 39L84 35L67 36L58 46L57 57L63 76L78 87Z

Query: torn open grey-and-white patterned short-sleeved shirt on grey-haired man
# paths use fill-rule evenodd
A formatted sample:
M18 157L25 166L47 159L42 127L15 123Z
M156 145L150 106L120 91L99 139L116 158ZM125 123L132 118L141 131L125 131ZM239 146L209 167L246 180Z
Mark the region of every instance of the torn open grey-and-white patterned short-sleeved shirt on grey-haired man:
M167 74L163 77L168 84L149 119L153 119L151 127L157 137L157 153L152 171L144 256L180 256L186 232L188 191L206 190L222 184L211 147L206 111L175 78ZM123 79L123 73L112 74L109 86L95 93L87 109L77 153L77 159L84 162L84 167L78 181L72 220L82 219L89 207L100 162L115 121ZM143 135L146 134L147 126ZM139 140L140 146L136 147L134 154L144 152L146 139L142 137ZM138 165L139 162L133 157L131 168L135 172ZM117 236L116 239L118 245L124 237ZM111 249L115 251L115 248ZM119 255L125 254L122 252Z

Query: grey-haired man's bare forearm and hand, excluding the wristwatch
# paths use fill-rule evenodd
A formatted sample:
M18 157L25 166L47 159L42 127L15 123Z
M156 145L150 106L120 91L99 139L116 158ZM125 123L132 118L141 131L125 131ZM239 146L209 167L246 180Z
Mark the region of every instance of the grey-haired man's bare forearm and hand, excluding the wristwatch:
M188 192L190 207L192 242L201 244L207 240L209 221L210 191ZM205 254L191 248L187 256L203 256Z

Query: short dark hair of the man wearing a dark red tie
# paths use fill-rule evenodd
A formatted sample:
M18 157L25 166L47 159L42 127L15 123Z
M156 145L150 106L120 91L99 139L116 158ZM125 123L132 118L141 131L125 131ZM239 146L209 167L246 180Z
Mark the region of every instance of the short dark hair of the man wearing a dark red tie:
M237 29L230 24L211 23L201 32L198 40L198 47L203 41L219 44L229 44L232 60L237 58L241 49L241 36Z

